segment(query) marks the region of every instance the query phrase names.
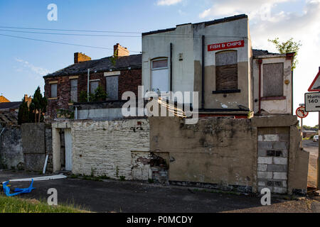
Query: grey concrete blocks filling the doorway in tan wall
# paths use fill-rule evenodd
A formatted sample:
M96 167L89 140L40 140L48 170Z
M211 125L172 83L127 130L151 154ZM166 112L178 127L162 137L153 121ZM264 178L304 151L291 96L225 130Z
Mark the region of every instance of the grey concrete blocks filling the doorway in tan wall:
M274 131L274 134L264 134L265 131ZM276 131L282 131L276 132ZM257 137L257 179L258 191L269 188L278 194L287 193L288 179L288 128L260 128Z

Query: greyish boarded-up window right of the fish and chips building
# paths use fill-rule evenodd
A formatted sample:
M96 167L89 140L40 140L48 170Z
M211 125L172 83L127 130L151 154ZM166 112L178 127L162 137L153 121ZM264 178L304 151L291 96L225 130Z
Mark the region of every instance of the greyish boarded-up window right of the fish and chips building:
M283 63L263 65L263 96L283 96Z

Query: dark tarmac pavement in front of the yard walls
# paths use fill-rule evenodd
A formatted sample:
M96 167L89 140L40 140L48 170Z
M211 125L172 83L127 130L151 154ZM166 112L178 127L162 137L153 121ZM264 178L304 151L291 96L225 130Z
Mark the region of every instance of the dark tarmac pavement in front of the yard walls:
M0 181L38 177L28 172L0 171ZM28 187L30 182L12 182L14 187ZM58 191L58 204L72 204L80 209L112 213L213 213L213 212L320 212L319 202L314 199L272 197L271 206L262 206L260 198L228 192L205 192L203 189L162 186L146 182L103 182L85 179L55 179L33 183L36 187L24 199L46 201L48 189Z

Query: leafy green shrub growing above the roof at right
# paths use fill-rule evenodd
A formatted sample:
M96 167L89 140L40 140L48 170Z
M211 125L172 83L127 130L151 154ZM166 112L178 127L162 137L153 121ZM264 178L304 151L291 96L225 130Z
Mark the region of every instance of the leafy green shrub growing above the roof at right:
M302 44L299 42L295 42L293 38L290 38L286 42L280 42L279 38L274 38L274 40L268 39L269 42L273 43L277 50L281 54L287 54L288 52L295 52L294 54L294 60L292 61L292 71L297 67L298 60L297 60L297 55L300 47Z

